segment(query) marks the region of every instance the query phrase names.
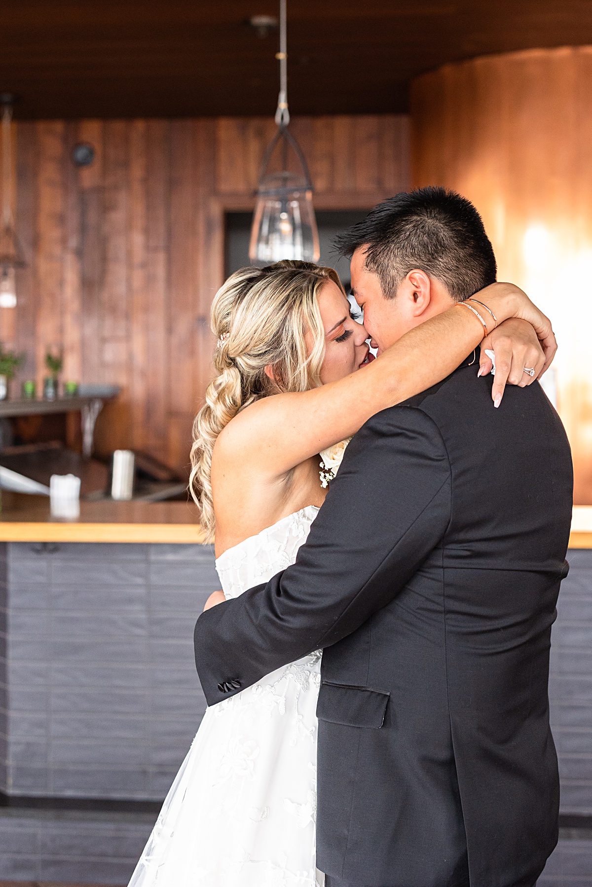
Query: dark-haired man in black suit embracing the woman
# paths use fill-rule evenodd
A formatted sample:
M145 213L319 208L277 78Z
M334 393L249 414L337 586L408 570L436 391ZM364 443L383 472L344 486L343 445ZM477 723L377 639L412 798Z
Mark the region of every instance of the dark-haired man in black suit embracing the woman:
M379 350L495 279L476 209L438 188L385 200L340 245ZM556 844L570 450L538 383L496 410L477 369L367 421L296 564L195 628L209 704L323 648L328 887L533 887Z

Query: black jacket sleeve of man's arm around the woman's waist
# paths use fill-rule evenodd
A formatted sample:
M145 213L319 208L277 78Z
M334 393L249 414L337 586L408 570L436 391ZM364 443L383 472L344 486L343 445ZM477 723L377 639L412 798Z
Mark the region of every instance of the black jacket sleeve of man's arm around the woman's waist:
M202 613L195 664L209 705L351 634L443 538L450 465L435 423L399 406L353 438L296 563Z

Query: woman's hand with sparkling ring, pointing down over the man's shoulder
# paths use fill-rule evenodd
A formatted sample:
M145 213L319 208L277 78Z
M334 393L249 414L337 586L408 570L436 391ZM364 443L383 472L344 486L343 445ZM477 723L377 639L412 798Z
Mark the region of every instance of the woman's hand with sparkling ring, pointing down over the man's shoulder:
M491 373L493 363L485 349L495 355L493 380L493 404L499 406L506 383L525 388L539 378L545 367L545 355L533 326L525 320L510 318L498 326L481 342L479 375ZM525 373L525 367L533 369L533 375ZM499 399L498 399L499 398Z

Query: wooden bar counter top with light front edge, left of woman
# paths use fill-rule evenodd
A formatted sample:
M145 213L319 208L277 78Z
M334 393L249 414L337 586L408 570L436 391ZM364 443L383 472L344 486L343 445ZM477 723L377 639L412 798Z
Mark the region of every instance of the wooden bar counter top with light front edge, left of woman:
M9 498L3 491L4 500ZM189 502L81 502L77 521L53 520L49 498L12 496L0 514L0 542L201 543Z

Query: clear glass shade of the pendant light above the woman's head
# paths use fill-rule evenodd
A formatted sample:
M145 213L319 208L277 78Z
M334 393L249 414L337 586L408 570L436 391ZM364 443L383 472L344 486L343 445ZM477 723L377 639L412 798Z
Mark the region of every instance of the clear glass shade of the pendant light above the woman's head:
M304 177L280 172L261 180L249 258L252 263L263 265L281 259L319 261L319 231L312 207L312 189Z

